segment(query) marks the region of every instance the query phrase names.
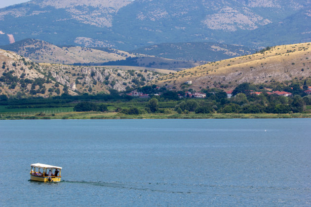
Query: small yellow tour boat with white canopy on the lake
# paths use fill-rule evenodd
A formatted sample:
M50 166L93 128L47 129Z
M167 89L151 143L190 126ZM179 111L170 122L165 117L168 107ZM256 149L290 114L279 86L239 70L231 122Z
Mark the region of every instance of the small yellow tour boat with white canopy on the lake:
M59 182L61 180L61 169L61 167L41 163L31 164L30 179L40 182Z

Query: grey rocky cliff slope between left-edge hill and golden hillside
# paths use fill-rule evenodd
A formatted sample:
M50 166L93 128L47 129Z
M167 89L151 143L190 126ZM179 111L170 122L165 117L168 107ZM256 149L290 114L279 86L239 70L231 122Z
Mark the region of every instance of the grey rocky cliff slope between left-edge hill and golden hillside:
M154 71L121 70L103 67L43 65L43 70L72 91L80 93L108 93L109 89L125 91L127 88L143 86L163 76Z

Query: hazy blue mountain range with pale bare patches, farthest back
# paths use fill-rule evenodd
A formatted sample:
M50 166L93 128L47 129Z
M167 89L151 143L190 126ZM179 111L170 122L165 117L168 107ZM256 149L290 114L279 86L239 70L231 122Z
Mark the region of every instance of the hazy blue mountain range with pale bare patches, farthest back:
M31 0L0 9L0 44L35 38L120 50L167 42L259 48L308 40L310 5L310 0Z

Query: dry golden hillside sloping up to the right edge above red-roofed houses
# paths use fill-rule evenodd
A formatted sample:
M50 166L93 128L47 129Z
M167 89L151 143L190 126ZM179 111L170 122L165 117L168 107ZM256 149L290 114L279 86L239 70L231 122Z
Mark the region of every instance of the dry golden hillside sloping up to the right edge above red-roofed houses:
M192 81L194 90L208 87L232 89L243 82L267 83L311 76L311 43L280 45L264 52L211 62L156 80L160 86L181 89Z

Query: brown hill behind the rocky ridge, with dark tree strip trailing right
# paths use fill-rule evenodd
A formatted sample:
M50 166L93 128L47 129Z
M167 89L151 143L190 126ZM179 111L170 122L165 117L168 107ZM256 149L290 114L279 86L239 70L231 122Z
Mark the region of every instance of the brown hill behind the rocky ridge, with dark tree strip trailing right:
M85 66L131 66L148 70L193 68L206 62L178 61L144 54L130 54L112 48L87 48L50 44L37 39L24 39L0 46L1 49L16 52L37 63ZM162 70L159 70L163 72Z

